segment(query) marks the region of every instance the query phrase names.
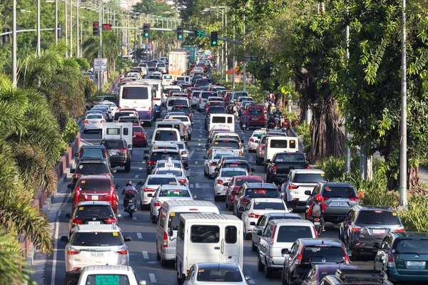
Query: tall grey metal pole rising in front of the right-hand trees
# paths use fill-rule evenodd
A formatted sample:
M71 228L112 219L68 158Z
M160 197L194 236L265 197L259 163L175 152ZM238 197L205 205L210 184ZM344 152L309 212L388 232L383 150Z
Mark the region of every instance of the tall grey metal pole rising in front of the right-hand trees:
M401 140L399 143L399 207L407 208L407 61L406 0L402 0Z

